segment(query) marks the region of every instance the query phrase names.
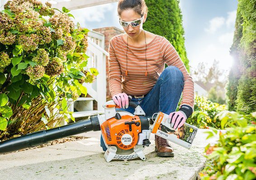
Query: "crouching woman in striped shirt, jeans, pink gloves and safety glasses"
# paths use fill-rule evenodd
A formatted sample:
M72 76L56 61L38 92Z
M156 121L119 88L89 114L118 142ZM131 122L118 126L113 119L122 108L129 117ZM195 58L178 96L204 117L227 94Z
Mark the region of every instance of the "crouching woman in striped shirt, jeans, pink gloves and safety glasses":
M147 117L155 112L169 114L171 127L184 124L194 107L194 82L171 43L165 37L142 28L147 18L144 0L120 0L119 22L124 34L109 44L109 89L121 110L128 108L128 95L139 104ZM168 67L164 69L164 64ZM183 92L179 111L175 112ZM156 136L158 156L173 156L166 139ZM104 150L103 139L101 146Z

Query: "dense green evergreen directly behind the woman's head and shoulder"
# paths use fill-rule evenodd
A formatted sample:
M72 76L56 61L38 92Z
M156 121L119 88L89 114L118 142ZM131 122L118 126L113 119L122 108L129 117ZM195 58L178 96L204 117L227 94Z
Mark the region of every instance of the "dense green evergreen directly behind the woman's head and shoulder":
M175 47L189 72L189 60L185 49L185 31L182 27L179 3L179 0L146 0L148 14L143 28L154 34L165 36Z

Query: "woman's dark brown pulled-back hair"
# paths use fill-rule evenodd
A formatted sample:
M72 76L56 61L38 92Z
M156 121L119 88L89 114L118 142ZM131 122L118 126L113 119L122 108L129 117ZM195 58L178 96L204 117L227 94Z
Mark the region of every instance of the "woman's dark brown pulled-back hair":
M145 0L119 0L118 3L118 14L119 16L123 12L123 10L133 9L137 14L143 16L143 14L147 13L147 5Z

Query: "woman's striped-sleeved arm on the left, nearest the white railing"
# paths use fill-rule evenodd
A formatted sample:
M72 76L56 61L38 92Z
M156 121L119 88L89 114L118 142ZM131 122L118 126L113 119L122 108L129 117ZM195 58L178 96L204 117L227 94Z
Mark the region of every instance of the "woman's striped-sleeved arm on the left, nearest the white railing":
M112 38L109 42L109 90L112 97L115 94L122 93L122 73L113 45L114 40Z

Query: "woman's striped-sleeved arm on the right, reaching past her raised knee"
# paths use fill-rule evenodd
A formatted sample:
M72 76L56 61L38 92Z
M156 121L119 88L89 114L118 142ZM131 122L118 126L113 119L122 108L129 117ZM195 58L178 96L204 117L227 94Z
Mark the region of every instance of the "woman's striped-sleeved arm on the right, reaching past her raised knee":
M179 108L182 108L182 105L188 105L193 109L194 108L194 81L192 77L187 72L187 69L184 63L181 61L179 54L177 53L173 45L171 45L171 43L166 38L163 39L161 46L162 46L161 51L162 51L165 63L168 66L178 67L184 76L184 88L182 91L183 97L182 97L182 101L180 103Z

